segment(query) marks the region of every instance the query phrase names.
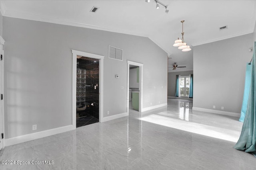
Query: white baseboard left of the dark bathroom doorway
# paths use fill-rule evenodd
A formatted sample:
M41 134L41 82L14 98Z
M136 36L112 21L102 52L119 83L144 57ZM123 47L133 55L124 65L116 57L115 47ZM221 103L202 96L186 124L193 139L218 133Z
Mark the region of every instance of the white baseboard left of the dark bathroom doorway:
M27 134L27 135L8 138L8 139L4 140L4 144L5 144L5 147L8 147L10 145L15 145L15 144L18 144L18 143L32 141L32 140L35 140L35 139L39 139L39 138L47 137L47 136L51 136L51 135L56 135L58 133L63 133L63 132L71 131L71 130L74 130L74 129L76 129L76 127L73 127L72 125L57 127L55 129L49 129L49 130L46 130L46 131L40 131L40 132L36 132L36 133L30 133L30 134Z

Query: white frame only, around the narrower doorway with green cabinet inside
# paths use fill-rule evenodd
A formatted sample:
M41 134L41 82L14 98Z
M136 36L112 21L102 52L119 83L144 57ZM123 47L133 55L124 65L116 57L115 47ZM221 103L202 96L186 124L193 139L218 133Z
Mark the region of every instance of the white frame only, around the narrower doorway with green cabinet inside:
M143 80L143 64L137 63L134 61L128 61L127 60L127 113L129 114L129 86L130 86L130 65L139 66L140 72L139 72L139 112L141 112L142 109L142 80Z

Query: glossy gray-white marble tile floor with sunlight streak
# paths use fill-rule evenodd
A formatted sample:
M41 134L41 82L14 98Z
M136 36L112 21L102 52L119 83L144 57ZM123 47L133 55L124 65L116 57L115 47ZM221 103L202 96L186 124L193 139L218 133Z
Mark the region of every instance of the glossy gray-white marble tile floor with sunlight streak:
M168 99L168 107L143 115L94 123L6 147L1 160L54 164L0 165L1 170L256 170L252 154L233 149L242 123L192 111L192 101Z

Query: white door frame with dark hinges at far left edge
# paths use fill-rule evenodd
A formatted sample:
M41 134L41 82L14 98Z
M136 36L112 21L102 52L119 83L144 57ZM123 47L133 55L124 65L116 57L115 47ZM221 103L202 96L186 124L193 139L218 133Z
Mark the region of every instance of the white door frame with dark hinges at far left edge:
M3 100L0 100L0 149L4 148L4 139L2 139L2 133L4 133L4 39L0 36L0 54L2 55L2 61L0 61L0 94L3 94ZM5 135L4 135L5 136Z

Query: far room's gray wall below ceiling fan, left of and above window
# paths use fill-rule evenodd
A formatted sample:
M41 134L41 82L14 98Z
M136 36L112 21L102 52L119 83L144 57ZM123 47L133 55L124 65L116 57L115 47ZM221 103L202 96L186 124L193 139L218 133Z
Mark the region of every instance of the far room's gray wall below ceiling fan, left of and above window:
M168 96L175 95L176 75L184 76L189 74L193 74L193 71L168 72L168 94L167 95Z

